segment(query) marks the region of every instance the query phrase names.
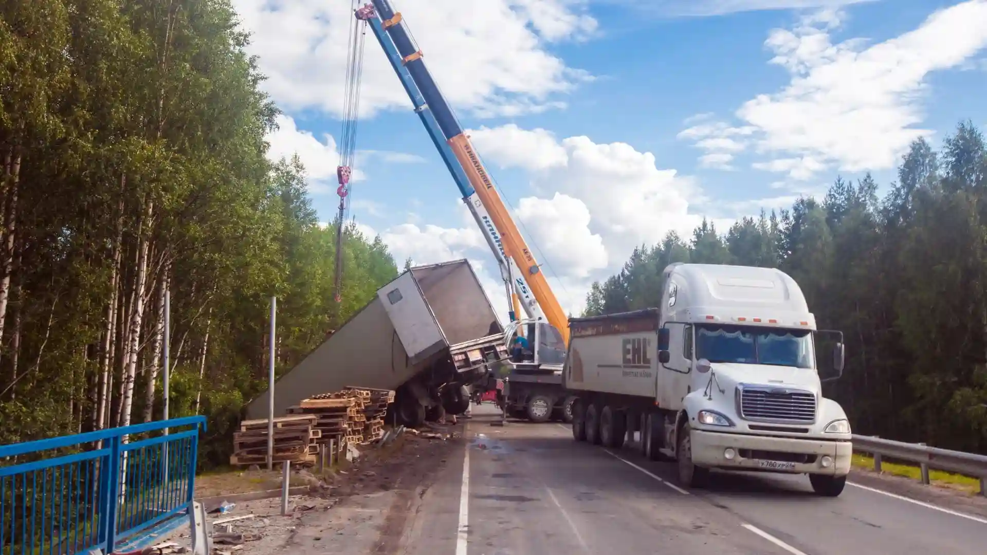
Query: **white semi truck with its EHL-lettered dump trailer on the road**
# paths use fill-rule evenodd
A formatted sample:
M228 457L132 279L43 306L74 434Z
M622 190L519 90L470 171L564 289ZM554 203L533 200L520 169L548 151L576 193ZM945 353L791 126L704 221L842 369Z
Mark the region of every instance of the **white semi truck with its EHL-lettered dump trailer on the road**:
M822 496L850 472L850 423L821 384L843 372L840 332L816 330L805 297L765 268L673 264L661 305L569 319L565 387L576 440L624 445L704 487L711 469L808 474Z

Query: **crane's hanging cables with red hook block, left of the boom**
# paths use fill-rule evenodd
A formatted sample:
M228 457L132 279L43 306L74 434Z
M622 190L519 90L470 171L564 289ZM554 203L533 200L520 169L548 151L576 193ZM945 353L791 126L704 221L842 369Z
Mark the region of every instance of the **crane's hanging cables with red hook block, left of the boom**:
M363 43L366 39L365 19L355 17L359 11L359 0L352 0L354 17L349 21L349 43L346 48L346 79L342 107L342 132L340 133L340 165L336 176L340 187L339 212L336 216L336 282L334 284L336 302L342 301L342 222L349 214L349 179L356 160L356 124L360 112L360 82L363 76Z

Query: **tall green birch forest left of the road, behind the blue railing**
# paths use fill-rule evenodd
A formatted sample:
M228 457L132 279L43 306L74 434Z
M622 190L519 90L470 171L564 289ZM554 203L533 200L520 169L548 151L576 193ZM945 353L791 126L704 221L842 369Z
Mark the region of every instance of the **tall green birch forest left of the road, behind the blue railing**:
M269 298L291 367L397 274L335 232L226 0L0 5L0 444L172 417L225 436L266 389ZM222 463L230 441L205 440Z

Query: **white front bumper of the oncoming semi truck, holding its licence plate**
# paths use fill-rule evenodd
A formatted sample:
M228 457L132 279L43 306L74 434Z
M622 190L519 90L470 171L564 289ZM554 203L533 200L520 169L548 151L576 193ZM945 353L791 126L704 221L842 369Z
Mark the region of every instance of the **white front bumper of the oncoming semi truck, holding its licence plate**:
M792 474L850 473L850 441L820 441L799 437L746 436L693 430L693 464L724 470L787 472Z

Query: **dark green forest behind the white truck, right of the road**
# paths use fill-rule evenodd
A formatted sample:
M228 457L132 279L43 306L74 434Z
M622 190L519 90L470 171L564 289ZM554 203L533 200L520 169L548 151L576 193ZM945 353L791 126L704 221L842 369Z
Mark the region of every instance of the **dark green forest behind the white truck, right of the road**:
M987 148L960 123L942 152L912 143L883 198L870 175L825 198L704 221L636 249L592 285L586 315L659 306L675 262L778 268L796 279L820 329L844 333L843 377L825 385L857 434L987 452Z

